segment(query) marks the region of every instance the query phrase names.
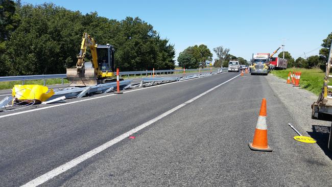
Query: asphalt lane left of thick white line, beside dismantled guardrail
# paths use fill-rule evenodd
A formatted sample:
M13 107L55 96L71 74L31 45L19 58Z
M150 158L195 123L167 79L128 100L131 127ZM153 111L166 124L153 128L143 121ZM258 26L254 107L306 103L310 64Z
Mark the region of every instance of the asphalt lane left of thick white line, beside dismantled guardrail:
M6 186L24 184L236 75L224 73L2 118L0 180Z

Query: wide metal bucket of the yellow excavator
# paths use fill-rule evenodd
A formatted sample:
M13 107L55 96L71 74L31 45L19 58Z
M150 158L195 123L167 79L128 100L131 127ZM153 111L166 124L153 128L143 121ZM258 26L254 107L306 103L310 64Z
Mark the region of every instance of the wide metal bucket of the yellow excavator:
M67 68L67 79L71 86L93 86L97 85L97 78L93 68L83 68L77 72L77 68Z

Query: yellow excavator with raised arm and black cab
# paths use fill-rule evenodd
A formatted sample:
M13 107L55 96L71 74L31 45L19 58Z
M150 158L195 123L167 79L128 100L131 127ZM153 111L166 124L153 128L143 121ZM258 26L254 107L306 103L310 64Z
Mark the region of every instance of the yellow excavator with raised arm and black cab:
M85 62L85 53L90 48L92 60ZM73 86L91 86L114 81L114 48L110 44L96 44L87 33L83 34L76 68L67 68L67 79Z

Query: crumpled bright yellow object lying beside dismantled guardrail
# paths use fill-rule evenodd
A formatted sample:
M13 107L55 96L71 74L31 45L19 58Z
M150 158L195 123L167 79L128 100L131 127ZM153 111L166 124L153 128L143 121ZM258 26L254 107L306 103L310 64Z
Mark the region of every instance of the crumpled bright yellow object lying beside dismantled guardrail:
M40 102L48 100L51 96L54 95L53 89L50 92L46 93L49 90L46 86L41 85L14 85L13 87L13 98L17 98L20 101L24 100L38 100Z

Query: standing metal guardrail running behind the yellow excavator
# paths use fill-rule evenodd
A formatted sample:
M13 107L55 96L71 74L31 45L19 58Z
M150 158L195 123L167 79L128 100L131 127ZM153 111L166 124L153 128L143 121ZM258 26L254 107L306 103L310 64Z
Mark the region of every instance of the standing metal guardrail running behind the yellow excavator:
M193 73L193 72L208 72L208 71L217 71L220 68L204 68L204 69L185 69L185 73ZM135 72L120 72L120 76L129 76L133 75L152 75L153 72L155 75L169 75L183 72L183 69L170 69L170 70L156 70L156 71L135 71ZM66 78L66 74L54 74L54 75L27 75L27 76L9 76L9 77L0 77L0 82L10 82L10 81L22 81L22 84L25 83L26 80L43 80L44 85L46 84L47 79L61 79L61 83L63 84L63 79Z

